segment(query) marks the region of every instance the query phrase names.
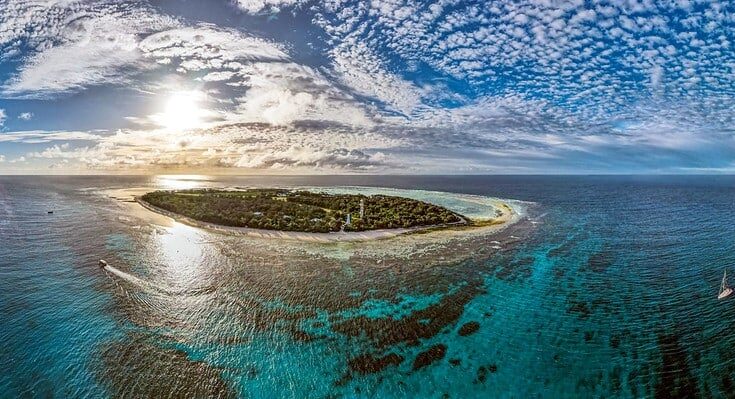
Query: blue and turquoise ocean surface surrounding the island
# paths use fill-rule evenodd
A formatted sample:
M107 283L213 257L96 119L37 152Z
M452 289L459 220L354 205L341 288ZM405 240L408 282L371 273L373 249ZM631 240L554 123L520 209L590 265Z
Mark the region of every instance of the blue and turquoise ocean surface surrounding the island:
M155 223L105 194L276 185L527 213L400 252ZM725 269L731 176L0 176L0 397L728 397Z

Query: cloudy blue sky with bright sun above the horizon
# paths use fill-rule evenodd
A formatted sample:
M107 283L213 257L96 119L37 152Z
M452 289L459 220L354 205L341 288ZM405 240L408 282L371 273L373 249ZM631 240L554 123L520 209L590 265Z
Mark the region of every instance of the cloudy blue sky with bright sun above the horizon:
M0 0L0 174L735 173L735 2Z

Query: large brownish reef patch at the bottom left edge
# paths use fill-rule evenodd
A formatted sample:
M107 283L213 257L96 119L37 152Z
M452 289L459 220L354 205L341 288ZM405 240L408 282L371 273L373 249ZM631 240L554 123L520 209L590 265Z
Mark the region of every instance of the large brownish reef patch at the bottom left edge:
M139 337L102 348L98 378L113 397L235 398L220 370ZM151 383L155 381L155 383Z

